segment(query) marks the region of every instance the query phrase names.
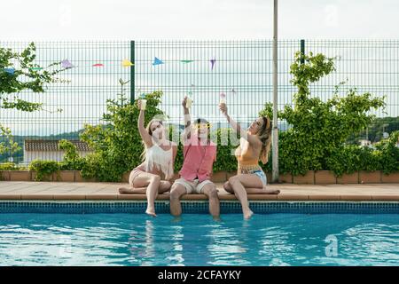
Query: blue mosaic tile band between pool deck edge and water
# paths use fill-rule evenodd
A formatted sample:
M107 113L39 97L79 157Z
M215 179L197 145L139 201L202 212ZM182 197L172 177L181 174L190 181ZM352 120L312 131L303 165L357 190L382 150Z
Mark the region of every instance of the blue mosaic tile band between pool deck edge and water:
M207 201L183 201L184 214L207 214ZM156 201L159 214L169 213L168 201ZM251 201L255 214L399 214L399 202L376 201ZM99 214L145 212L145 201L0 201L4 213ZM221 201L221 214L241 213L237 201Z

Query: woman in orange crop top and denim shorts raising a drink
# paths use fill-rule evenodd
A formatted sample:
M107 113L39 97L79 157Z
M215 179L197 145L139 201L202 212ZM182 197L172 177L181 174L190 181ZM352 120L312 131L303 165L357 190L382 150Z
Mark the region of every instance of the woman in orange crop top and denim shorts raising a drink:
M230 177L223 187L229 193L234 193L241 202L246 219L254 213L249 209L246 194L278 194L278 190L266 189L267 179L259 160L268 162L271 145L271 121L267 116L258 117L247 130L227 114L227 106L222 103L220 110L226 116L233 130L239 133L239 147L235 151L238 164L237 176Z

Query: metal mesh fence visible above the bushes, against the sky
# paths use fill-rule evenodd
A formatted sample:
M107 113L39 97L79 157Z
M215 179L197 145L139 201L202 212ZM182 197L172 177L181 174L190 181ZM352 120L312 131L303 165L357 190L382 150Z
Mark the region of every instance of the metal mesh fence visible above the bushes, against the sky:
M22 51L27 42L0 42L3 48ZM22 99L43 103L44 110L24 113L0 108L0 123L11 128L22 146L25 138L77 139L84 123L98 124L106 99L116 99L118 80L130 79L128 97L163 91L160 108L172 123L182 123L181 100L192 92L192 116L207 118L216 127L227 126L218 110L219 94L226 94L231 115L251 122L264 103L272 101L272 41L105 41L37 42L36 63L47 66L68 59L74 68L59 77L70 83L48 85L44 93L23 91ZM338 57L336 72L311 86L312 96L332 97L334 86L387 96L387 114L399 115L399 40L282 40L278 42L278 108L292 104L296 91L289 67L295 51L322 52ZM163 64L153 64L154 59ZM130 59L134 67L121 67ZM211 61L212 60L212 61ZM101 67L94 67L95 64ZM62 112L55 112L58 108ZM279 122L280 130L286 129ZM0 138L2 139L2 138ZM7 155L0 156L5 162ZM18 162L18 159L17 161Z

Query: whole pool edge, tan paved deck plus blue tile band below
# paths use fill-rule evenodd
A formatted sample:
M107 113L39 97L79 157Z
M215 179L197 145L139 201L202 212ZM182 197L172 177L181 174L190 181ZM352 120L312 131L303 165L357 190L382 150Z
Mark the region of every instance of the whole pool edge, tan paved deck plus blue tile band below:
M120 183L14 182L0 181L0 213L11 210L46 210L51 213L74 212L132 212L145 209L145 194L119 194ZM239 201L216 184L223 212L240 213ZM399 184L374 185L268 185L278 189L278 195L248 195L254 211L273 212L363 212L372 210L399 213ZM158 212L168 212L169 194L160 194ZM207 212L204 194L184 195L184 211ZM40 205L40 206L39 206ZM72 210L72 211L71 211Z

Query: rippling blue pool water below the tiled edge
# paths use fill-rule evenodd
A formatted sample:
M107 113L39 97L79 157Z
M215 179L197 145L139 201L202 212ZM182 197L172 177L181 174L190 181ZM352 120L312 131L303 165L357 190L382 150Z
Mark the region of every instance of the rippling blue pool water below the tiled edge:
M398 265L398 217L0 214L0 265Z

